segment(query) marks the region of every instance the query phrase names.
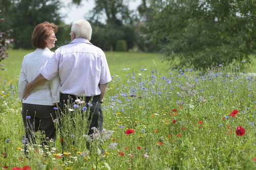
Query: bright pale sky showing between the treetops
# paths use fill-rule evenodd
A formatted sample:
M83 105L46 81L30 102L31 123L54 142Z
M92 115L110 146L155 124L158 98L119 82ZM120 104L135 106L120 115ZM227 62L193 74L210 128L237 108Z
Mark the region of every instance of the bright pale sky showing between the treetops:
M89 11L94 8L94 0L82 0L80 6L71 5L71 0L61 0L65 5L60 9L60 13L64 16L64 22L70 24L73 21L80 19L89 19ZM140 5L140 0L129 1L129 8L135 10ZM88 17L86 17L88 15Z

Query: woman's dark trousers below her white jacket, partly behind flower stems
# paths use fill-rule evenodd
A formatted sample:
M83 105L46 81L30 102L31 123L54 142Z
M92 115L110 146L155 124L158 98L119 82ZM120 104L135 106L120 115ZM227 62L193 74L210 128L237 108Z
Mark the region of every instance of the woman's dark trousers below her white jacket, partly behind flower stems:
M56 118L54 106L22 104L22 118L26 132L26 142L35 142L35 132L44 131L46 139L41 144L48 144L49 139L55 140L55 127L53 120ZM26 148L25 148L26 150Z

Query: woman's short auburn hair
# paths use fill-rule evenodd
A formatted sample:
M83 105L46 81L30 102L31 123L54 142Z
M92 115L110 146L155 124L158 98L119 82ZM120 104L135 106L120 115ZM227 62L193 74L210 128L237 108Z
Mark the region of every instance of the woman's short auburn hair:
M39 23L37 26L35 26L31 37L32 46L34 48L46 48L46 39L50 36L51 31L57 33L58 26L47 21Z

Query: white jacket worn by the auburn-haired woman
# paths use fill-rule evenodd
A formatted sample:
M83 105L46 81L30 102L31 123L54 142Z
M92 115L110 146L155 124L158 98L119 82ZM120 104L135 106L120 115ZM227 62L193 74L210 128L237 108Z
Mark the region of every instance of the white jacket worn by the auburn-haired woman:
M18 81L19 99L22 100L26 85L33 81L40 74L39 69L46 61L53 56L53 52L49 48L37 48L33 53L26 55L22 62L22 70L20 71ZM52 106L59 102L60 98L60 79L58 75L51 81L47 81L43 85L37 86L23 103Z

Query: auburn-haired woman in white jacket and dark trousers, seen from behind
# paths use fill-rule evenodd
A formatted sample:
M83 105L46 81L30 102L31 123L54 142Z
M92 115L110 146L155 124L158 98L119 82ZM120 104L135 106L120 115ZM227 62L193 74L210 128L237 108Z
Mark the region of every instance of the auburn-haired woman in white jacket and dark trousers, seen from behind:
M53 56L51 48L55 46L57 38L55 33L58 27L47 21L39 23L32 33L31 41L36 50L26 55L22 62L20 71L18 91L19 99L22 100L22 117L26 132L23 143L25 153L27 144L35 142L34 133L38 130L44 131L46 138L42 144L49 144L49 140L55 139L54 119L56 119L55 105L59 103L59 77L33 89L31 95L23 100L23 93L26 85L38 74L39 69L46 61Z

